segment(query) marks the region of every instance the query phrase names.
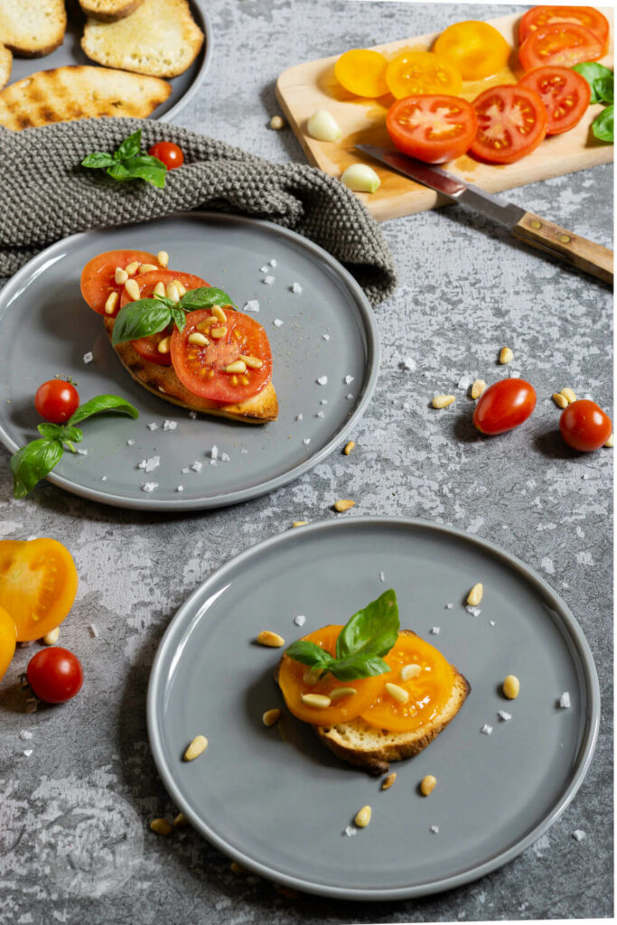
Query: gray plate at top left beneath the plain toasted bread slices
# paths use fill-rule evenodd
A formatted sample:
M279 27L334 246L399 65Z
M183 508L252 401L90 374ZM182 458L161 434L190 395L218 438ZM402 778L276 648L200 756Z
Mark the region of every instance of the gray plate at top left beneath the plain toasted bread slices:
M191 67L185 70L179 77L170 80L171 93L165 103L157 106L151 118L162 119L168 122L173 116L177 116L180 109L183 109L191 97L197 93L204 82L205 73L210 66L212 57L212 31L205 14L203 0L189 0L191 13L199 28L204 32L204 46L195 58ZM75 0L77 6L77 0ZM65 68L68 65L89 65L97 67L96 62L92 61L81 51L81 35L83 33L83 22L85 21L79 7L76 12L72 12L73 5L69 6L68 26L65 33L64 42L56 48L51 55L41 58L13 58L13 68L8 80L15 83L24 77L30 77L39 70L51 70L52 68Z

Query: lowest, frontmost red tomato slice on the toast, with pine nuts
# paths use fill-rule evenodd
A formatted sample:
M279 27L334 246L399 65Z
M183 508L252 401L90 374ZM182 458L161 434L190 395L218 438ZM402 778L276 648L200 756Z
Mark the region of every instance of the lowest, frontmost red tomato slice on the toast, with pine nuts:
M235 404L257 395L272 376L272 353L264 328L248 314L223 308L225 323L216 319L209 308L187 314L183 331L174 328L171 336L171 361L183 386L193 395L210 401ZM213 332L224 331L220 337ZM191 334L202 334L204 346L189 342ZM259 368L244 364L241 357L249 357ZM225 372L229 364L240 361L243 372Z

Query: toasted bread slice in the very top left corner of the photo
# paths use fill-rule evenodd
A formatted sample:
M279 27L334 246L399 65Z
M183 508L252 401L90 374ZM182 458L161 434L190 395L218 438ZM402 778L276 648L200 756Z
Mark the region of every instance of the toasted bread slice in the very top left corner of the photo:
M22 57L43 57L64 40L64 0L2 0L0 42Z

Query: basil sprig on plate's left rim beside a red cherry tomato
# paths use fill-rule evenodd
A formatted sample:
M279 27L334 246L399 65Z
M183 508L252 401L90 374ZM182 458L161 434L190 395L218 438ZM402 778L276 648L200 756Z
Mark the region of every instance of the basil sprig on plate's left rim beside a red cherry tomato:
M97 395L85 401L77 411L68 418L66 424L40 424L37 429L41 438L31 440L25 447L11 456L13 473L13 497L25 498L45 475L49 475L64 455L65 445L71 452L76 452L74 443L80 443L83 434L79 427L81 421L102 411L117 411L139 417L139 412L126 399L117 395Z

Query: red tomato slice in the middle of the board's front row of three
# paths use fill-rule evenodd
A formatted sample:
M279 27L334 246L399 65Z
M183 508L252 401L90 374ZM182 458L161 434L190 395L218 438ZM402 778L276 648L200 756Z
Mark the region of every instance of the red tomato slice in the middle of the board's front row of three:
M491 87L472 103L477 134L471 153L493 164L512 164L535 151L546 136L549 117L541 97L528 87Z

